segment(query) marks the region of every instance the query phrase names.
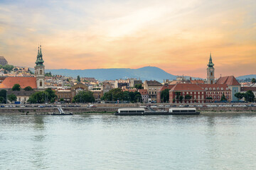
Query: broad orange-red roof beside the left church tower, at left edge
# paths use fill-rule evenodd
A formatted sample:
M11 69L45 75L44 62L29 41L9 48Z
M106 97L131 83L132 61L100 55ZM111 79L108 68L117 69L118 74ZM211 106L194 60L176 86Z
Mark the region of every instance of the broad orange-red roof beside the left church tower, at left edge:
M26 86L37 89L36 77L6 77L0 84L0 89L11 89L14 84L19 84L21 89L24 89Z

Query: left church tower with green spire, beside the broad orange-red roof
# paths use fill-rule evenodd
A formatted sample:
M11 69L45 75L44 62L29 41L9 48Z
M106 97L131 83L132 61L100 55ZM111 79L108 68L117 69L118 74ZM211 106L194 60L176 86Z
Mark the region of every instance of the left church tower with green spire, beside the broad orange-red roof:
M43 55L42 55L42 50L41 50L41 45L40 49L38 47L38 55L36 59L36 66L35 66L35 75L36 75L36 84L38 89L44 89L44 75L45 75L45 67L43 65Z

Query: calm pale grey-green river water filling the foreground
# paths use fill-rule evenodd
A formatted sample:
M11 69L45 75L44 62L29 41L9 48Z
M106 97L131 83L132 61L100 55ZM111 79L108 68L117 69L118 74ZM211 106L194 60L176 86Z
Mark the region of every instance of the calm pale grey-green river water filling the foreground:
M1 115L0 169L256 169L256 115Z

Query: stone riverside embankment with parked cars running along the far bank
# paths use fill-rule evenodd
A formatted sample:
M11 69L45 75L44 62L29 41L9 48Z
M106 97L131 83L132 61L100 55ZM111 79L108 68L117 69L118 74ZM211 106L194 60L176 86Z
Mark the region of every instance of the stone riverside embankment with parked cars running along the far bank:
M12 107L10 107L12 106ZM29 106L17 106L9 105L0 108L0 115L50 115L50 113L58 112L57 105L31 105ZM58 105L60 106L60 105ZM142 103L127 103L127 104L102 104L97 103L94 105L95 108L88 108L87 105L81 106L72 106L72 105L61 105L63 111L65 112L72 112L73 114L112 114L117 111L118 108L139 108L145 107L146 104ZM154 110L161 110L161 111L169 111L169 108L173 107L180 107L182 105L174 106L169 104L156 104L154 106L151 105L151 108ZM185 107L185 105L183 105ZM208 114L208 113L256 113L255 106L245 106L242 105L215 105L215 104L207 104L204 103L203 105L193 106L197 108L201 114Z

